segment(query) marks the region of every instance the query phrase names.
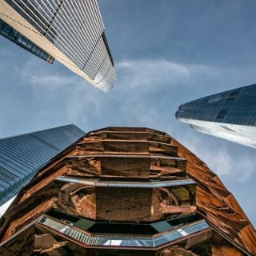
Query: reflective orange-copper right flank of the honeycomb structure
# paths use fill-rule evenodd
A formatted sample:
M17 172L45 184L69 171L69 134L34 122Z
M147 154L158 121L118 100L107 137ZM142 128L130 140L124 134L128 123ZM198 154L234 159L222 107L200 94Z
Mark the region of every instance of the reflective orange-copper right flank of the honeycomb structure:
M190 150L172 139L171 144L178 146L178 155L187 160L186 173L198 182L198 210L222 234L241 245L252 254L256 254L256 233L254 226L238 205L234 196L222 184L204 162Z

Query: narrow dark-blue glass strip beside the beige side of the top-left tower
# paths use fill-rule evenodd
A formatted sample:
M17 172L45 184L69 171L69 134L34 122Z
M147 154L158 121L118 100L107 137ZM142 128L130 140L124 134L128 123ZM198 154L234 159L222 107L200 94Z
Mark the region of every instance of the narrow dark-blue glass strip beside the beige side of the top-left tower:
M16 45L30 51L31 54L42 58L50 64L54 63L54 57L47 54L45 50L42 50L39 46L35 45L34 42L31 42L30 39L24 37L17 30L14 30L13 27L8 25L2 19L0 19L0 34L2 34L2 36L5 38L8 38L11 42L14 42Z

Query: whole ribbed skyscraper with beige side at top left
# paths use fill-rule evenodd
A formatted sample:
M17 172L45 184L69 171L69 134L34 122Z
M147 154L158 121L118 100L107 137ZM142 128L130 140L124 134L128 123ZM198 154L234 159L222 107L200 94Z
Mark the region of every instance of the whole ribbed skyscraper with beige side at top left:
M96 0L0 0L0 34L38 57L54 58L101 90L114 62ZM1 28L2 26L2 28Z

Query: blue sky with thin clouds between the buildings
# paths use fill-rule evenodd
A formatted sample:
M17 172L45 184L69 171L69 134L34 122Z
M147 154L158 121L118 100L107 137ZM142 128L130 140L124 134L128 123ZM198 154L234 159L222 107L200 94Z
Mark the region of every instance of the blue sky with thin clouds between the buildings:
M74 123L147 126L182 142L256 226L256 151L175 119L182 103L256 82L256 2L98 0L117 79L108 93L0 38L0 138Z

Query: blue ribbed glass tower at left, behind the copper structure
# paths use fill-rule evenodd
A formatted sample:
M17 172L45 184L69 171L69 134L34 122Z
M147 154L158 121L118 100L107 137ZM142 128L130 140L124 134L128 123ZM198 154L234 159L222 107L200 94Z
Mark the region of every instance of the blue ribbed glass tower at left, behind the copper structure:
M38 169L85 133L68 125L0 139L0 206L26 186Z

